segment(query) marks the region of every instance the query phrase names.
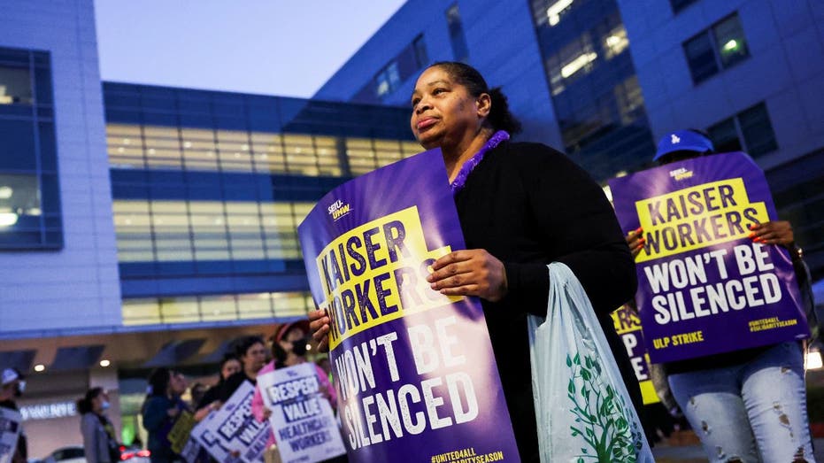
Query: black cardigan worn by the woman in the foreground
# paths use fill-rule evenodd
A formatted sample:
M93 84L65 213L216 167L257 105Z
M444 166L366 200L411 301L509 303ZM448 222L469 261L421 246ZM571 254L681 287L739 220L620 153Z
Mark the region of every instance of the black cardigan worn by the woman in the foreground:
M635 408L638 382L609 313L635 295L635 263L601 187L557 150L501 143L455 197L467 249L504 263L509 292L482 301L522 461L538 461L527 314L546 315L549 271L562 262L587 291Z

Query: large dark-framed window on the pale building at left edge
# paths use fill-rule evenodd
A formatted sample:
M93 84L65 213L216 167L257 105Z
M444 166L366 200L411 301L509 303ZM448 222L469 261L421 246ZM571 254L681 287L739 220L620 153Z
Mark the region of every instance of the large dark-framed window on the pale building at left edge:
M63 247L50 55L0 48L0 249Z

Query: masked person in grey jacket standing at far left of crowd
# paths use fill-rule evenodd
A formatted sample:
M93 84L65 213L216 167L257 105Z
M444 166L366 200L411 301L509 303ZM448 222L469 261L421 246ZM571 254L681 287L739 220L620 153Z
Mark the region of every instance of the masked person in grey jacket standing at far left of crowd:
M109 395L103 388L91 388L77 401L77 411L81 413L83 450L89 463L116 463L120 460L114 426L105 415L108 409Z

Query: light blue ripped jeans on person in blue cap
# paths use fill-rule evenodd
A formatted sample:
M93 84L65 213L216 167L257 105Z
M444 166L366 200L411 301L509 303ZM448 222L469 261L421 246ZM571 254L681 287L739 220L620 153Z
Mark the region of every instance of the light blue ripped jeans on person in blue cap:
M672 374L669 384L710 461L815 461L797 342L733 367Z

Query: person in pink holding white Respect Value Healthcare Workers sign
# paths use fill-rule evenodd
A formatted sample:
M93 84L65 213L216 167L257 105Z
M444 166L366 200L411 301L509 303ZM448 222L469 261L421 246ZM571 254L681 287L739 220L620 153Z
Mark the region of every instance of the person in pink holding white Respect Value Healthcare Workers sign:
M294 367L306 363L306 346L309 344L309 321L300 320L291 323L284 323L278 327L272 336L272 352L274 359L261 368L259 374L266 374L279 368ZM337 407L337 392L335 387L329 382L327 373L315 364L315 371L320 382L320 392L323 397L332 405L332 410ZM255 395L251 399L251 411L258 421L266 421L272 415L272 410L266 407L260 388L255 386ZM273 433L269 434L266 447L275 443Z

